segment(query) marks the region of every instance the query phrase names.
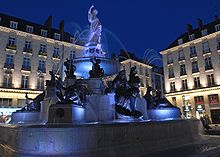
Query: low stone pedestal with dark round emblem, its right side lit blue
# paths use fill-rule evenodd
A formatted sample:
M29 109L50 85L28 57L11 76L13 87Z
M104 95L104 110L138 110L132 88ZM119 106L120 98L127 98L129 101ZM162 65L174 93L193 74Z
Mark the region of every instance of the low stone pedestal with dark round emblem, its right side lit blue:
M85 121L85 108L71 104L53 104L49 109L48 123L82 123Z

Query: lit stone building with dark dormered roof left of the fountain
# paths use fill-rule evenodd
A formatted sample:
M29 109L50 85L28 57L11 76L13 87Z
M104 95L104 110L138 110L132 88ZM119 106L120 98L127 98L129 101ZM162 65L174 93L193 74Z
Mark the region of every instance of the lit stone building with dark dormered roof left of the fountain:
M74 38L52 28L50 16L44 25L0 14L0 106L23 107L25 93L36 97L50 79L49 71L63 75L66 58L80 55L83 47Z

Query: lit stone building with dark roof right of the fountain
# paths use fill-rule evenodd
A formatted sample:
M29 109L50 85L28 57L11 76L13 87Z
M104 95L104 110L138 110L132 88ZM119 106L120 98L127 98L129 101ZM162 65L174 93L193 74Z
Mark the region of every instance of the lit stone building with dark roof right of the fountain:
M180 107L186 118L207 114L213 123L220 119L220 20L198 28L187 25L161 52L163 55L165 96Z

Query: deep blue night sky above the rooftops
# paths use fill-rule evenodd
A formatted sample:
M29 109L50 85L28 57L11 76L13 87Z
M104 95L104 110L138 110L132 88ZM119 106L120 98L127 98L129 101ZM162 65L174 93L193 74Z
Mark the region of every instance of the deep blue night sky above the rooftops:
M219 0L0 0L0 12L43 24L49 15L58 28L64 19L65 31L74 34L88 28L87 11L94 4L103 25L103 49L118 53L125 49L143 58L159 61L158 53L186 31L220 17ZM154 60L154 61L153 61Z

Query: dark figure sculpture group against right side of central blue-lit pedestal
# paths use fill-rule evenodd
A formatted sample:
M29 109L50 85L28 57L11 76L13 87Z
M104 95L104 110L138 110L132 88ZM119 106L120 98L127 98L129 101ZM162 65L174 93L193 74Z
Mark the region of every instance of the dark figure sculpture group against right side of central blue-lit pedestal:
M139 118L142 113L135 108L136 98L139 94L138 82L135 68L131 69L130 79L127 81L125 70L118 73L115 79L108 83L106 92L115 93L115 111L121 115Z

